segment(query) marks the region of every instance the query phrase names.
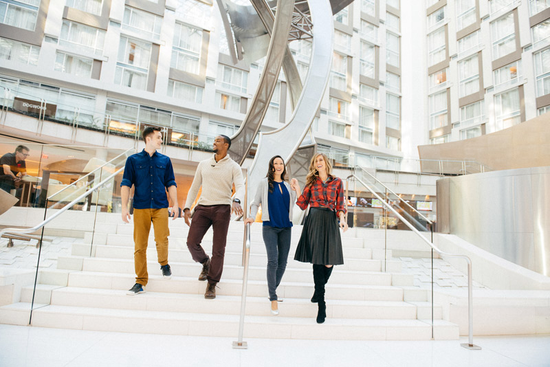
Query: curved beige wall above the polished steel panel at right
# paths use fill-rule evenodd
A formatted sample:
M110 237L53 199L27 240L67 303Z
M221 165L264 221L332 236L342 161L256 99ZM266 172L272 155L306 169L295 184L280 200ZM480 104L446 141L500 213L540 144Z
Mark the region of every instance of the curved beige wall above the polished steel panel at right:
M460 142L418 146L420 159L473 160L492 170L550 166L550 113Z

